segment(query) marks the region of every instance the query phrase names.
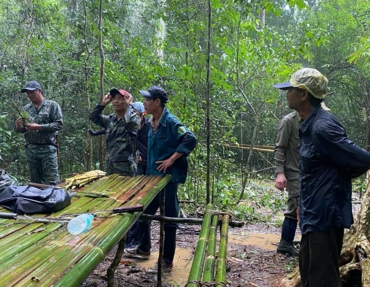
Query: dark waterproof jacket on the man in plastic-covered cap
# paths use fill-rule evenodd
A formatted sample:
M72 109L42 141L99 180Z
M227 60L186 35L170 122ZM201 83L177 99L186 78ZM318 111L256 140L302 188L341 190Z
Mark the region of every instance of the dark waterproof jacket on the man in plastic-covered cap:
M328 231L353 224L352 183L370 169L370 153L349 140L338 119L321 106L300 131L300 228Z

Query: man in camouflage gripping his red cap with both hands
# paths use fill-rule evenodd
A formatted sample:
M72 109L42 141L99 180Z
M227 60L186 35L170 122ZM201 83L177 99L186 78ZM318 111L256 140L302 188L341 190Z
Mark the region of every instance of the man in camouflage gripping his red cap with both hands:
M112 102L115 114L105 116L105 106ZM105 171L108 174L134 176L135 139L140 117L131 104L132 96L123 89L112 89L105 95L101 103L90 113L90 120L106 129L105 135Z

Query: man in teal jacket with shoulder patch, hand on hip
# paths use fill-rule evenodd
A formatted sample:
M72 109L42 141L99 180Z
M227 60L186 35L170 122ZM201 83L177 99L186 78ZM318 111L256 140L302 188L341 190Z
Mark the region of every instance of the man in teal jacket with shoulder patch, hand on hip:
M150 118L151 128L148 134L146 174L171 174L171 182L163 189L165 192L164 214L166 217L178 217L179 206L177 186L186 180L188 172L187 156L195 148L196 137L165 107L167 93L162 87L151 86L147 91L139 91L145 97L144 107ZM161 192L163 192L163 190ZM158 194L144 213L154 214L160 206L161 194ZM170 271L176 249L177 224L164 224L164 244L162 271ZM140 244L134 248L126 248L125 254L131 257L147 259L150 257L151 232L150 222L140 221ZM149 269L158 272L156 264Z

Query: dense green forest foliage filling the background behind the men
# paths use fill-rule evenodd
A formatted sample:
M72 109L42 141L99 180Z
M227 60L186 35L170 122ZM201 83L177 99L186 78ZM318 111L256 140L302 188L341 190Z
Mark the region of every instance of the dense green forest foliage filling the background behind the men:
M300 67L329 79L326 105L349 138L367 147L370 101L370 2L212 0L209 54L210 126L206 130L206 1L8 0L0 3L0 161L27 182L24 138L12 106L36 80L63 111L60 174L95 169L98 138L88 114L110 88L156 84L170 111L197 136L182 198L204 199L207 133L211 190L225 203L242 178L270 177L272 153L237 145L273 146L279 119L290 112L272 84ZM112 110L106 109L106 113ZM92 126L97 129L96 126ZM236 144L236 147L230 147Z

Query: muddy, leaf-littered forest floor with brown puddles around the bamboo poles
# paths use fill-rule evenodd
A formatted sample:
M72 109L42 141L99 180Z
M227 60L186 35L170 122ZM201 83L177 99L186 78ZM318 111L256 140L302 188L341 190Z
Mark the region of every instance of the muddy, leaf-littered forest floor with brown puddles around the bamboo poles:
M139 260L122 256L115 274L116 286L157 286L157 277L146 272L157 260L159 225L152 223L152 256ZM177 231L177 249L174 268L163 275L162 286L185 286L197 244L200 226L180 225ZM276 286L276 279L291 272L298 265L298 259L275 252L280 240L279 227L253 223L242 228L229 229L227 280L232 287ZM297 236L299 237L299 235ZM114 259L117 246L98 265L81 286L106 286L106 270Z

